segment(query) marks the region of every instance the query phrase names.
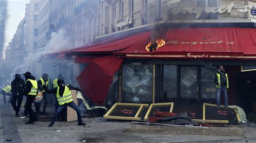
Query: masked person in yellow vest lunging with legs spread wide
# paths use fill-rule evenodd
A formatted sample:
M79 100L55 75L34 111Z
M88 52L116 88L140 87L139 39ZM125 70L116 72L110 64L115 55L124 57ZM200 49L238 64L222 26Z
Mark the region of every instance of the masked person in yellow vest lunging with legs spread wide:
M80 90L77 87L73 87L72 85L65 84L64 80L62 80L62 79L59 79L57 81L57 83L58 83L58 87L56 87L54 89L46 89L46 92L48 92L49 94L56 94L57 101L59 103L58 109L55 111L55 114L52 118L52 121L51 121L49 127L52 127L54 125L60 111L62 111L67 106L76 110L77 118L78 118L78 125L79 126L86 125L82 121L81 111L79 110L76 103L73 102L71 91L70 91L70 90L78 90L78 91L82 91L82 90Z

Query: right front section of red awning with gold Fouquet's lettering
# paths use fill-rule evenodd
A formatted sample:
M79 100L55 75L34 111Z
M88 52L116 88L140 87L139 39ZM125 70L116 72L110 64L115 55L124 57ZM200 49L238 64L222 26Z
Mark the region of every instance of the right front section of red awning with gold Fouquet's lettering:
M146 45L150 35L138 44L116 52L140 58L256 58L255 28L169 28L166 44L154 52Z

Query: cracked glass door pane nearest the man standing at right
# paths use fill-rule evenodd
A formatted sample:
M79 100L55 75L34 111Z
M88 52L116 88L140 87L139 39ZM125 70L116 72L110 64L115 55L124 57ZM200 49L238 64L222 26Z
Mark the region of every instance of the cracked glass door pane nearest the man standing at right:
M198 103L198 67L180 67L179 103Z

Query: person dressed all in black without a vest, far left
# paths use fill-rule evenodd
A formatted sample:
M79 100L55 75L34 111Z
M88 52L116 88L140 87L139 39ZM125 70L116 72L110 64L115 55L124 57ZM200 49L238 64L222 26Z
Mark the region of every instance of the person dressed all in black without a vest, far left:
M16 117L19 117L19 109L21 109L22 99L23 99L23 90L25 87L25 81L21 78L20 74L15 75L15 79L11 82L11 105L16 112ZM17 102L17 106L16 106Z

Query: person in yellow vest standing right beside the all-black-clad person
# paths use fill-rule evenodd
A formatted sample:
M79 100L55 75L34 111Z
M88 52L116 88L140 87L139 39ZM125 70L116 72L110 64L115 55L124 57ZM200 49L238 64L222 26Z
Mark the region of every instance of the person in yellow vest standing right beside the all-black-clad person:
M32 76L30 72L26 72L23 75L26 78L25 89L23 93L23 95L26 96L25 108L29 112L29 121L25 124L34 124L34 121L37 121L37 117L32 109L32 103L35 101L38 85L36 78Z

